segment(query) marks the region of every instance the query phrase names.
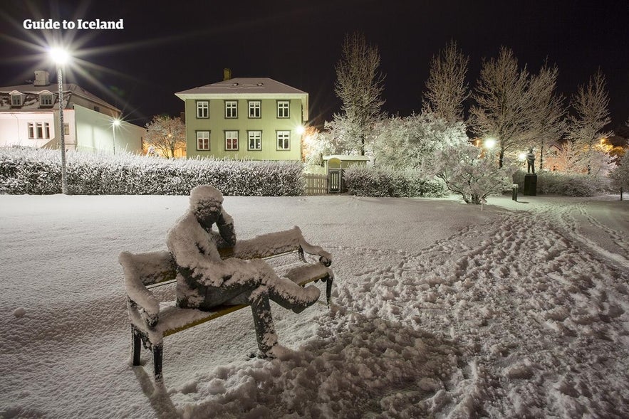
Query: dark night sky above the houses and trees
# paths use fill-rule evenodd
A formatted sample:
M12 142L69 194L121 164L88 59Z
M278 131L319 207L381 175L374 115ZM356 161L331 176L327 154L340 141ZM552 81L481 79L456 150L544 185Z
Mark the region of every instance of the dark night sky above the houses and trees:
M66 80L112 102L137 124L156 114L179 115L183 102L174 93L221 81L223 68L234 77L270 77L304 90L311 120L330 120L340 110L334 67L345 34L354 31L379 48L385 110L392 114L420 110L430 58L454 39L470 57L471 86L483 58L506 46L531 71L546 58L558 65L566 96L600 67L610 129L629 117L626 0L4 0L0 10L0 85L31 80L36 69L54 73L28 44L73 37L82 63ZM28 18L122 18L125 28L27 31Z

